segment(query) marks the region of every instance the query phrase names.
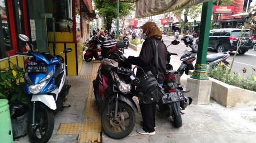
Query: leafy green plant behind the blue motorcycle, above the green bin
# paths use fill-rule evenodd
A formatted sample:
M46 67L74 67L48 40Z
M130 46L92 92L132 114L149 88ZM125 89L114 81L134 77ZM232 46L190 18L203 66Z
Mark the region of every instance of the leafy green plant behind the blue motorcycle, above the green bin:
M28 104L24 82L20 82L24 78L24 71L18 68L4 68L0 71L0 98Z

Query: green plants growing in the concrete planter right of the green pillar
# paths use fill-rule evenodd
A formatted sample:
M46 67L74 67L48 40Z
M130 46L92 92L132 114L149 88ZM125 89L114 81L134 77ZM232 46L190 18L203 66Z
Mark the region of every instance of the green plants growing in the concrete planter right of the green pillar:
M245 68L242 69L243 73L246 72ZM209 77L220 80L226 84L237 86L243 89L248 89L251 91L256 91L256 75L251 73L251 75L244 77L240 73L230 72L229 67L220 63L218 66L212 66L207 72Z

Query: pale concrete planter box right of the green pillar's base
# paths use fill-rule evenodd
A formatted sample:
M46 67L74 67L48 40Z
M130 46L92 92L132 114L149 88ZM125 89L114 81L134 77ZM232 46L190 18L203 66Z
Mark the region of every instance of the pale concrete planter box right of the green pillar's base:
M224 106L256 105L256 92L225 84L212 79L211 98Z

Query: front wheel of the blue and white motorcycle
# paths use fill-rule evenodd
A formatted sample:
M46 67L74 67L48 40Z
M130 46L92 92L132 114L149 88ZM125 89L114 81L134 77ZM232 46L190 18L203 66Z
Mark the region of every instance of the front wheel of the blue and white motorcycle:
M27 134L29 136L29 140L32 143L47 143L51 138L54 129L53 112L42 104L36 105L35 111L35 125L32 125L32 116L29 117L27 123Z

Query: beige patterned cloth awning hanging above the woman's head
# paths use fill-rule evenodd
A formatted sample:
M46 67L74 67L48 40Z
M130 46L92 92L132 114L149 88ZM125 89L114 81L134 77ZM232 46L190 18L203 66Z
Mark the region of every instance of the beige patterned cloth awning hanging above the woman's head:
M137 0L135 17L143 18L168 13L207 1L209 0Z

